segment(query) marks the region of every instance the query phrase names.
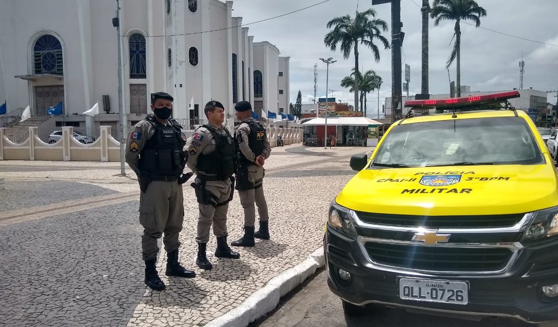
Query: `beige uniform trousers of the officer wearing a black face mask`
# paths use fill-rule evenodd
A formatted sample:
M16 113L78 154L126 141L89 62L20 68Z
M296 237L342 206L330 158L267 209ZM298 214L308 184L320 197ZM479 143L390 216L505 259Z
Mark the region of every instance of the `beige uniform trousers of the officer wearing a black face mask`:
M161 238L167 252L180 247L178 239L184 222L184 195L182 185L177 181L152 181L146 193L140 191L140 224L143 226L142 258L157 257Z

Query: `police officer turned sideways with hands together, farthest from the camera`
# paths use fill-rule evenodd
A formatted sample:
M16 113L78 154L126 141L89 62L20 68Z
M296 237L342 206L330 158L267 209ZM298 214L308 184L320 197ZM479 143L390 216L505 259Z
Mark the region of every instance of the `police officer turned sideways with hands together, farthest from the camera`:
M252 118L252 105L241 101L234 107L237 119L241 122L235 131L235 141L240 155L236 171L236 189L240 204L244 208L244 236L230 243L232 246L253 247L254 237L270 239L268 228L269 215L266 198L263 195L264 162L271 154L266 129ZM256 208L258 206L259 230L256 227Z

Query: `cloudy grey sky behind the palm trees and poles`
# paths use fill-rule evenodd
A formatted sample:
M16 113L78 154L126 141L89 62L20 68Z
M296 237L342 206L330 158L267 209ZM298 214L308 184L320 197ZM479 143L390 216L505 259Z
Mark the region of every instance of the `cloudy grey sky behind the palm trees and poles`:
M243 17L250 23L295 11L323 0L236 0L233 16ZM421 0L402 0L401 20L403 42L403 67L411 66L410 94L420 93L421 64ZM431 1L432 3L432 1ZM509 35L544 42L518 39L482 28L461 23L461 85L472 91L509 90L519 87L519 60L523 52L525 61L524 88L537 90L558 89L558 1L557 0L477 0L487 9L481 27ZM354 67L354 56L344 60L338 51L331 52L324 46L326 24L331 18L352 15L357 9L371 6L370 0L329 0L319 6L270 21L248 25L254 42L269 41L276 45L282 56L291 57L291 102L295 102L300 89L302 102L311 103L314 97L314 65L318 64L318 96L325 97L326 67L320 57L333 57L338 62L329 67L329 89L334 96L353 104L353 95L339 85ZM377 17L391 25L389 4L373 6ZM430 93L449 93L448 71L445 63L451 51L453 22L434 26L430 20ZM386 33L391 40L391 29ZM378 44L379 45L379 44ZM374 61L371 51L359 47L359 63L364 70L373 69L382 76L380 106L385 97L391 96L391 50L382 50L381 60ZM404 68L403 68L404 71ZM455 80L455 63L450 67ZM369 94L368 110L377 108L377 93ZM329 92L331 96L331 91ZM405 94L404 94L405 95ZM549 94L555 103L556 93ZM381 112L381 110L380 110Z

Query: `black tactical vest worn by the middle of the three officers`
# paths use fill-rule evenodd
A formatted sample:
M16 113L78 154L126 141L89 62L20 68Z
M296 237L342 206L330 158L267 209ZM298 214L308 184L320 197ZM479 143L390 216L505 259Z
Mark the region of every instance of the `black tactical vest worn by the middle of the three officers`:
M230 136L229 131L225 128L225 134L219 134L217 129L204 125L212 134L215 140L215 151L204 154L201 153L198 157L198 170L206 174L214 174L222 177L223 180L234 174L235 162L235 146L233 137Z

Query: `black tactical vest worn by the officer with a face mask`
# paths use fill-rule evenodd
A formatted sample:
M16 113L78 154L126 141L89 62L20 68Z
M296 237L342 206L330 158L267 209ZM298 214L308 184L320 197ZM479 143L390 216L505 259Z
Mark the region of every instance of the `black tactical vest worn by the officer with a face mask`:
M158 123L153 115L145 120L155 128L155 134L140 154L140 170L149 175L180 175L186 160L183 150L186 136L182 127L171 118L167 126Z

